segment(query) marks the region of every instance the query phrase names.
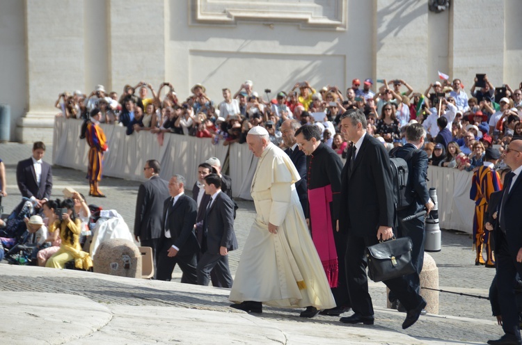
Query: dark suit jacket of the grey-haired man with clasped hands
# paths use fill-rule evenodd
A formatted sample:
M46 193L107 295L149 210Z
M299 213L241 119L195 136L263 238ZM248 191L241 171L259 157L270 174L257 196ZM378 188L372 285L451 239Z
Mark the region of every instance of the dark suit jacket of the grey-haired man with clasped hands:
M177 255L193 255L199 251L198 241L193 228L196 223L197 205L187 195L182 195L172 207L173 198L165 200L163 206L163 219L161 223L161 241L167 241L165 237L165 225L171 230L173 245L180 248ZM168 210L168 214L167 214Z

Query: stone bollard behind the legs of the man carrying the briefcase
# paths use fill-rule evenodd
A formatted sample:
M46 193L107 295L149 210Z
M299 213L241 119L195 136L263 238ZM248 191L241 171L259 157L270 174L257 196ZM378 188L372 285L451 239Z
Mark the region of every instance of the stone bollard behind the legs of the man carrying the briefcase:
M420 279L420 296L426 300L425 310L429 314L438 314L438 291L422 289L422 287L429 287L429 289L438 290L438 267L432 255L427 252L424 253L424 264L419 275ZM388 299L390 289L386 287L386 307L391 308L390 300Z

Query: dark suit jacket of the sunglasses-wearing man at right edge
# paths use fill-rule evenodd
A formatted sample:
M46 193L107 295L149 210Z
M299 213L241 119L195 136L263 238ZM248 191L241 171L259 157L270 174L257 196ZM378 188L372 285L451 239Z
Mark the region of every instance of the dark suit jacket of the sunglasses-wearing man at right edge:
M503 193L507 193L507 188L503 189ZM511 254L512 257L516 257L519 249L522 248L522 217L520 216L520 200L522 200L522 176L519 176L512 182L512 188L507 195L504 208L502 208L502 201L500 201L499 206L499 216L506 217L506 228L504 230L506 232L509 254Z

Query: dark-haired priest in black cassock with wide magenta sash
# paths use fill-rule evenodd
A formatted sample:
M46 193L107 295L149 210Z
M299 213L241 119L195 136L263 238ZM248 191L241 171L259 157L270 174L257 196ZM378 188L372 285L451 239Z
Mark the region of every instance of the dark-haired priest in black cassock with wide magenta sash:
M321 143L315 125L297 129L296 142L307 156L308 209L305 212L312 239L328 278L337 307L322 314L339 316L350 309L345 272L346 235L338 232L342 162L331 147ZM308 307L303 317L319 311Z

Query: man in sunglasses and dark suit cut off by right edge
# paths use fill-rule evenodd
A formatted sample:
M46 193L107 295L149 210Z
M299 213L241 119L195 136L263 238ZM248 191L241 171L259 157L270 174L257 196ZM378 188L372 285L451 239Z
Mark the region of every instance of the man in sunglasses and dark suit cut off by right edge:
M502 200L498 205L500 226L496 227L494 236L498 301L505 335L498 340L488 341L488 344L493 345L522 344L514 291L516 273L522 276L522 140L509 143L503 158L512 172L505 177Z

